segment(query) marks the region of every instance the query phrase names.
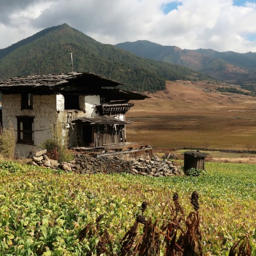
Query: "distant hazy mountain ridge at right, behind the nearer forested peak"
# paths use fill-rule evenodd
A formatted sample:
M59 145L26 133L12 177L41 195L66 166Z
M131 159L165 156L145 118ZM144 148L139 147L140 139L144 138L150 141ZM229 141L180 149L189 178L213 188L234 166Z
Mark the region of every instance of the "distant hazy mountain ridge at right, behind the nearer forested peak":
M175 63L215 79L238 84L256 84L256 53L217 52L211 49L182 50L147 40L123 42L117 47L138 56Z

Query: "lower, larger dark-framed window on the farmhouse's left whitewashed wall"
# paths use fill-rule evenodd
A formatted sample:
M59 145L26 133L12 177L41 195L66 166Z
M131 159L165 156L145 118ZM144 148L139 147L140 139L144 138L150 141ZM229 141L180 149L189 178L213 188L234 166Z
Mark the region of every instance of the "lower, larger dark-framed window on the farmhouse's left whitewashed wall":
M33 117L17 117L18 143L34 144Z

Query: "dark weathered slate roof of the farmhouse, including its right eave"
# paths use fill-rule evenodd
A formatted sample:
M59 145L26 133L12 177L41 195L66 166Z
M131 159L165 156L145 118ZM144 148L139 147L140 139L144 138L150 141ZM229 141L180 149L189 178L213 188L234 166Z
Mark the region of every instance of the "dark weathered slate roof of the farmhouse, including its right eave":
M106 101L137 100L149 98L141 93L125 91L117 87L124 83L90 72L70 72L20 76L0 81L0 92L6 94L98 94ZM111 88L111 89L110 89Z

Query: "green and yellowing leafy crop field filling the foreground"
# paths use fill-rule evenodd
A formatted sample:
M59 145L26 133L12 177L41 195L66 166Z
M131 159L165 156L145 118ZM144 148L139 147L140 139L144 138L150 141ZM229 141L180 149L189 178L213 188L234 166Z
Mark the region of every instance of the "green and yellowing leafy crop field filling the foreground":
M2 161L0 255L96 254L97 234L105 229L118 254L142 202L148 204L146 219L167 219L163 208L176 192L187 216L193 211L194 190L199 194L203 252L228 255L234 241L248 234L255 255L256 165L207 162L206 169L200 177L89 176ZM79 241L80 231L96 225L97 218L98 233L92 228ZM142 228L139 224L140 233Z

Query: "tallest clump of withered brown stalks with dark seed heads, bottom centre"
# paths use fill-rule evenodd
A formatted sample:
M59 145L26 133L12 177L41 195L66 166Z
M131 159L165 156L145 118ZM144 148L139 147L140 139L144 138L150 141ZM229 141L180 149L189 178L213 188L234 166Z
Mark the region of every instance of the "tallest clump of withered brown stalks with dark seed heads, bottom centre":
M163 207L162 214L166 207L169 212L166 219L156 219L154 224L152 219L143 216L145 207L141 207L142 215L136 218L134 225L126 232L121 247L121 255L131 253L133 255L160 255L161 236L165 245L164 255L202 255L201 231L199 229L201 218L198 214L199 195L194 191L191 195L191 204L195 211L191 211L185 219L184 208L179 203L177 193L173 196L174 206L166 203ZM143 205L146 205L143 202ZM143 224L143 233L136 241L138 225ZM159 225L162 224L160 227Z

